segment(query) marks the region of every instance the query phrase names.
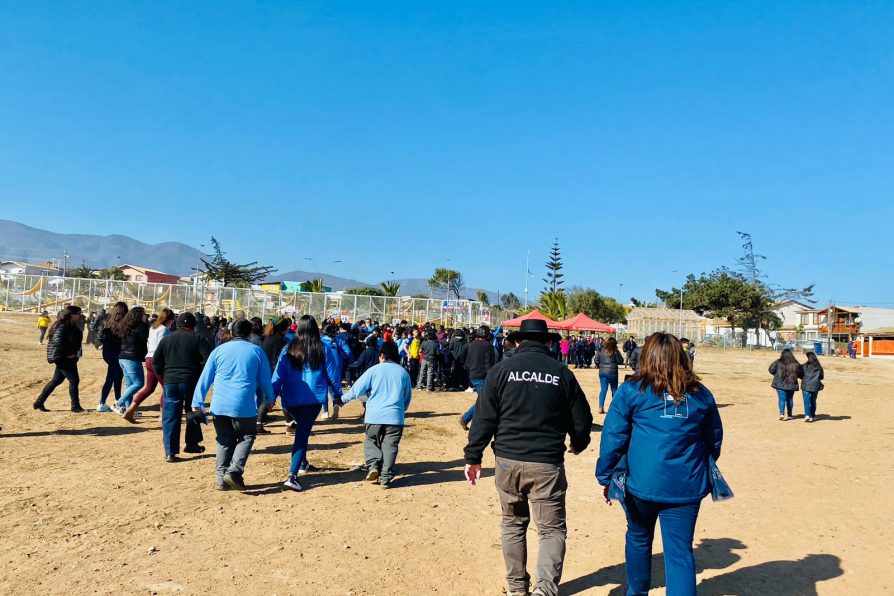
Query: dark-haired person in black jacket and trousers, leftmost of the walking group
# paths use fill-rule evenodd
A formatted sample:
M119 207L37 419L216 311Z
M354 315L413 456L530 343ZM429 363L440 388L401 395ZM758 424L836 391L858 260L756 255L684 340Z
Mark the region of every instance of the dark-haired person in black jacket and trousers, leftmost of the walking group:
M81 341L84 334L78 327L78 323L83 315L78 306L69 305L62 309L59 318L50 326L47 331L49 341L47 341L47 362L56 365L56 371L53 378L47 383L43 391L40 392L37 401L34 402L34 409L41 412L49 412L46 401L62 382L68 379L68 395L71 398L71 411L83 412L81 407L80 396L78 394L78 384L81 381L78 375L78 353L81 350Z

